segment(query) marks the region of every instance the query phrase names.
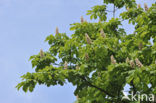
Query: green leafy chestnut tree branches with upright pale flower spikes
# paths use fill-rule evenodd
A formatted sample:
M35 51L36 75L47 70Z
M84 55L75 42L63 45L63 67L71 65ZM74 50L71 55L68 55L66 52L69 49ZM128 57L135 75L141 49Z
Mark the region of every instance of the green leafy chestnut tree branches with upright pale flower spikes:
M121 8L126 10L115 17ZM113 13L110 20L108 12ZM76 87L77 103L136 103L122 100L126 84L129 92L156 95L156 3L142 8L135 0L103 0L87 15L99 22L81 17L71 24L71 36L56 28L45 40L49 50L30 57L35 72L21 76L16 88L32 92L36 84L69 82ZM135 27L132 34L125 31L124 21Z

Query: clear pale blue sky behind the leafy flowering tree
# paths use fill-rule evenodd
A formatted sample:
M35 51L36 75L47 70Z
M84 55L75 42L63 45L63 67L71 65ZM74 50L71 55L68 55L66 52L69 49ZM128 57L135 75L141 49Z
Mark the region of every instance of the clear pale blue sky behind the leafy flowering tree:
M155 0L138 0L150 6ZM15 86L20 76L32 72L31 55L41 48L48 50L45 38L55 32L69 31L70 25L79 22L101 0L0 0L0 103L73 103L74 87L67 84L63 87L36 86L34 92L17 91ZM110 16L109 16L110 17ZM127 32L133 30L127 26Z

